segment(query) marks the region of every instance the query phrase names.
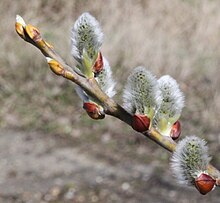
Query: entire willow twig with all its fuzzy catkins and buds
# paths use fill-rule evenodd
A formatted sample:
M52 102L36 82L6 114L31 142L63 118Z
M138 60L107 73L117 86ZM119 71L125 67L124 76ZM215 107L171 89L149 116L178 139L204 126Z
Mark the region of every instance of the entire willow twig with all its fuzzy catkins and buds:
M146 68L137 67L128 77L123 92L123 107L112 97L115 85L107 59L101 53L103 33L98 21L83 13L71 33L72 56L76 67L70 67L47 43L40 31L16 16L15 29L26 42L46 57L50 69L76 84L83 108L93 119L111 115L173 153L171 167L178 182L195 186L207 194L220 185L220 172L212 166L206 142L196 136L176 143L181 133L180 115L184 96L170 76L156 77Z

